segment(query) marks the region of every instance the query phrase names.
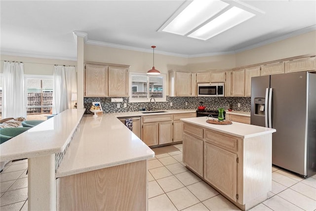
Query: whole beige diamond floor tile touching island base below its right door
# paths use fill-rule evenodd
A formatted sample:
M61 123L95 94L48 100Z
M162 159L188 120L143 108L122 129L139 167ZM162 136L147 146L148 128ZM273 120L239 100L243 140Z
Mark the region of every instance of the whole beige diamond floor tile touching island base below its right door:
M214 190L211 186L206 184L204 181L200 181L194 183L192 185L187 186L187 188L199 199L200 201L204 201L206 199L212 198L219 193Z

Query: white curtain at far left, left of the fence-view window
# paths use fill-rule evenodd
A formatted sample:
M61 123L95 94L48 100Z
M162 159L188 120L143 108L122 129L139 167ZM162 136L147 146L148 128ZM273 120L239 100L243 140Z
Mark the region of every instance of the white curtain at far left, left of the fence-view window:
M26 117L23 63L4 62L2 88L2 119Z

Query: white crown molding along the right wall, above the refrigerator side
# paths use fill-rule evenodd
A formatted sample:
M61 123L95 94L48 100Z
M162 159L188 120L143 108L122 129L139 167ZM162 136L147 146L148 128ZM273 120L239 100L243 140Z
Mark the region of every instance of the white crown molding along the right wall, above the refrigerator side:
M272 39L269 39L269 40L266 40L266 41L263 41L263 42L258 42L256 44L252 44L252 45L248 45L248 46L243 47L243 48L239 48L239 49L235 50L235 53L242 52L242 51L245 51L245 50L250 50L252 48L260 47L260 46L263 46L263 45L266 45L266 44L271 44L273 42L285 40L285 39L288 39L288 38L291 38L291 37L295 37L295 36L298 36L298 35L302 35L302 34L305 34L305 33L308 33L308 32L312 32L312 31L315 31L315 30L316 30L316 25L309 26L309 27L306 27L304 29L300 29L300 30L297 30L297 31L294 31L294 32L290 32L290 33L287 33L285 35L281 35L281 36L278 36L278 37L275 37L275 38L272 38Z

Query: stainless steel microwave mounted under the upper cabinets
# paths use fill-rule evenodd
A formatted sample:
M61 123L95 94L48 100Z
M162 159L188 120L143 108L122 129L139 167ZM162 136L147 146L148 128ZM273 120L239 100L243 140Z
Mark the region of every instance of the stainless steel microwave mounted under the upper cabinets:
M197 84L197 96L224 97L224 83Z

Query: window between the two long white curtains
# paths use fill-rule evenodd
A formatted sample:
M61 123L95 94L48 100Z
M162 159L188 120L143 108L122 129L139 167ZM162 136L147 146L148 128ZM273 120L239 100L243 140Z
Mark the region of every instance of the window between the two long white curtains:
M53 103L52 76L25 76L27 115L49 114Z

